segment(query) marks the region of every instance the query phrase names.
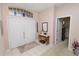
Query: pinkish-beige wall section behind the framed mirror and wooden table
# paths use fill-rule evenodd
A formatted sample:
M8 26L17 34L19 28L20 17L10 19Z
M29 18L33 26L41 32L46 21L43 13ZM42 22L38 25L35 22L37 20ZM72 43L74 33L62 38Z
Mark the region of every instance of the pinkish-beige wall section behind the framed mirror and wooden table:
M53 40L54 40L54 6L40 12L38 14L38 19L39 19L39 33L42 30L42 22L48 22L48 34L50 36L50 44L53 45Z

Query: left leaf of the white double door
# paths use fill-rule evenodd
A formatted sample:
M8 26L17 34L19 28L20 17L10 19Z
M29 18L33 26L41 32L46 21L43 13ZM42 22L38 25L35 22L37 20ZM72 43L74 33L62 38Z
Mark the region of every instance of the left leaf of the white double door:
M16 17L9 17L8 19L8 39L10 48L15 48L25 43L23 20L23 18Z

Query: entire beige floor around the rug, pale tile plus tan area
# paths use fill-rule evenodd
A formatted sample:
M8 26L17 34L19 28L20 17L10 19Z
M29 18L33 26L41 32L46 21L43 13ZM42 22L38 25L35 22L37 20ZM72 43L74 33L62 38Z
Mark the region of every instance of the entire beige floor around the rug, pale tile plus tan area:
M7 50L5 56L73 56L73 53L67 48L67 41L54 47L40 44L24 53L20 53L17 48Z

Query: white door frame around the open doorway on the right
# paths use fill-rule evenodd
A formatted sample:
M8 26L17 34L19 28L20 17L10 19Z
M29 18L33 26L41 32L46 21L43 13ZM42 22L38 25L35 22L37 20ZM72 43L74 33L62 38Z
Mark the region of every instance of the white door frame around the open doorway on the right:
M55 45L57 45L57 43L56 43L56 39L57 39L57 20L59 20L59 18L64 18L64 17L70 17L69 40L68 40L68 42L70 42L71 15L68 15L68 16L59 16L59 17L56 17L56 20L55 20ZM68 46L69 46L69 43L68 43Z

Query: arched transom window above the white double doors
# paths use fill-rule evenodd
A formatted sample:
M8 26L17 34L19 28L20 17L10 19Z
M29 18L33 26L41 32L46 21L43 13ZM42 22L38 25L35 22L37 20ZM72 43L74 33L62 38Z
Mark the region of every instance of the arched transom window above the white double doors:
M33 13L31 13L30 11L24 10L24 9L19 9L19 8L9 8L9 15L33 18Z

